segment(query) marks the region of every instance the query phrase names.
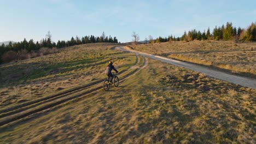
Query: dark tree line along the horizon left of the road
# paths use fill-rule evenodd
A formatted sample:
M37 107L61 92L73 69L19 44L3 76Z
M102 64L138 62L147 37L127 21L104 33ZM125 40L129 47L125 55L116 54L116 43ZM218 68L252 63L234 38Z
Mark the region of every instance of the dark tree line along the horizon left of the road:
M23 41L20 41L18 43L11 43L9 42L8 45L0 45L0 63L1 63L1 57L4 53L8 51L14 51L19 52L22 50L26 50L27 52L31 51L39 51L42 47L48 47L48 48L62 48L62 47L68 47L73 45L80 45L80 44L89 44L89 43L118 43L117 37L112 38L111 35L109 37L105 36L104 32L100 37L95 37L94 35L86 35L85 37L82 37L81 39L79 37L72 37L71 40L58 40L57 43L55 43L51 39L50 31L48 34L46 34L46 38L43 38L40 40L40 42L36 41L34 42L33 39L27 41L26 38L24 38Z

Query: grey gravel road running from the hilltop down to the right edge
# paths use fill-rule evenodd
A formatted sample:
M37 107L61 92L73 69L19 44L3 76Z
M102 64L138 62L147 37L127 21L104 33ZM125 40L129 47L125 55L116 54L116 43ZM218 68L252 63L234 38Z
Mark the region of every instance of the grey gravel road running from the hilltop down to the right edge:
M216 79L228 81L228 82L235 83L237 85L241 85L241 86L245 86L245 87L256 88L256 80L255 79L236 76L236 75L232 75L232 74L227 74L222 71L203 67L201 65L191 64L191 63L182 62L182 61L176 61L176 60L173 60L173 59L167 58L167 57L162 57L162 56L158 56L158 55L152 55L152 54L148 54L148 53L144 53L144 52L139 52L139 51L132 50L129 47L125 47L125 46L117 46L116 48L119 50L122 50L122 51L135 52L141 56L146 56L146 57L149 57L149 58L161 61L161 62L166 62L166 63L170 63L173 65L177 65L179 67L198 71L200 73L206 74L206 75L214 77Z

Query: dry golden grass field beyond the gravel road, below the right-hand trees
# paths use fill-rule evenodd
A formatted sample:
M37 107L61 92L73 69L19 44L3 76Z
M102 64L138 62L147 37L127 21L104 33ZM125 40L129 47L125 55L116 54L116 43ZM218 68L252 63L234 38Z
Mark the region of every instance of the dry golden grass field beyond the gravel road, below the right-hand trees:
M232 41L176 41L171 43L131 45L136 50L168 56L182 61L211 65L231 73L256 75L256 43ZM246 74L243 74L247 76Z

